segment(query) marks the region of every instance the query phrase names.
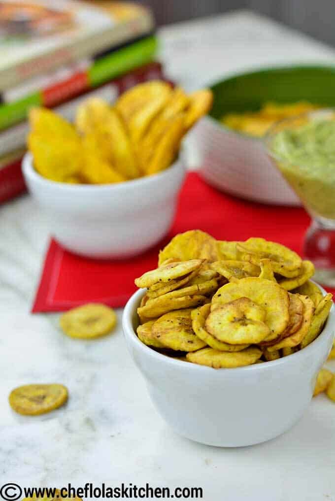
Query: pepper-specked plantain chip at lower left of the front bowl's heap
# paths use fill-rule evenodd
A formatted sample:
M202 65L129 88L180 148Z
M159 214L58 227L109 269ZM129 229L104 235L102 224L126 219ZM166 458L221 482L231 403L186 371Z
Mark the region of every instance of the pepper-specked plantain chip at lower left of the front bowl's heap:
M153 336L165 348L175 351L195 351L206 346L192 329L191 311L178 310L167 313L156 320L152 327Z

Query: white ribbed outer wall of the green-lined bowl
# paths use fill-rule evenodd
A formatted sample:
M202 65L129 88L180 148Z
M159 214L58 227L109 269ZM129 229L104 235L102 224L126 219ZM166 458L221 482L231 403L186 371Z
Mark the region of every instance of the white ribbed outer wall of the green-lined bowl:
M261 139L239 134L210 116L203 117L189 136L197 150L196 169L212 186L257 202L301 205Z

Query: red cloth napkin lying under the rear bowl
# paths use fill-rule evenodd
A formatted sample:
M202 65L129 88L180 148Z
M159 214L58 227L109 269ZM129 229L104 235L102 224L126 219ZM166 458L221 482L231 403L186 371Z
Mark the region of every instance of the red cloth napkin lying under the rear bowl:
M202 229L221 240L262 236L302 252L309 216L302 208L248 202L221 193L189 173L168 237L142 256L126 261L97 261L75 256L52 240L33 312L66 311L89 302L124 306L135 292L134 279L156 268L158 251L173 235Z

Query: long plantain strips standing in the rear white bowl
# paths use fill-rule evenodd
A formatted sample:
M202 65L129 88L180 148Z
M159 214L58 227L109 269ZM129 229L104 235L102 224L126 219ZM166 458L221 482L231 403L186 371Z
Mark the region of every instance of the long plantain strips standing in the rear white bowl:
M39 174L69 184L114 184L157 174L178 157L183 137L212 106L212 92L187 95L161 81L139 84L111 106L83 101L74 124L32 108L28 147Z

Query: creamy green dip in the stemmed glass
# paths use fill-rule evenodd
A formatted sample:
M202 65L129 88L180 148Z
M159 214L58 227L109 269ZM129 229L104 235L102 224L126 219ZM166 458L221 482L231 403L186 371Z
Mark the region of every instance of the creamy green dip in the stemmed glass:
M281 130L270 149L311 214L335 219L335 120L318 118Z

